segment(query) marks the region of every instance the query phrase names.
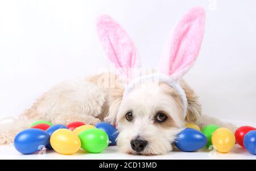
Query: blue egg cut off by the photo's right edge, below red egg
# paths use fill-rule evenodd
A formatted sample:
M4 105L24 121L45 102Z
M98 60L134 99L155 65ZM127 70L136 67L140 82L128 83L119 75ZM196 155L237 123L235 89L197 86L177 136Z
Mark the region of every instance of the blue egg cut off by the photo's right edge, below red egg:
M243 145L251 154L256 155L256 130L247 132L243 137Z

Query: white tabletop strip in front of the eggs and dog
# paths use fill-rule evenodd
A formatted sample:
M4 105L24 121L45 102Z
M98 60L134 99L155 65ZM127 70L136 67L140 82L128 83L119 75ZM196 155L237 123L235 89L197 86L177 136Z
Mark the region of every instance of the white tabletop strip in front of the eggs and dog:
M0 146L0 159L70 159L70 160L99 160L99 159L113 159L113 160L121 160L121 159L163 159L163 160L177 160L177 159L201 159L201 160L214 160L214 159L221 159L221 160L228 160L228 159L238 159L238 160L246 160L246 159L256 159L255 155L251 155L245 149L236 145L231 152L229 153L218 153L216 151L210 151L208 149L201 149L197 152L180 152L174 151L170 152L167 155L158 155L158 156L134 156L134 155L127 155L125 153L119 153L117 147L108 147L104 152L98 154L86 153L82 149L73 154L73 155L60 155L54 151L46 151L45 153L35 153L33 155L22 155L18 151L15 150L13 145L8 146Z

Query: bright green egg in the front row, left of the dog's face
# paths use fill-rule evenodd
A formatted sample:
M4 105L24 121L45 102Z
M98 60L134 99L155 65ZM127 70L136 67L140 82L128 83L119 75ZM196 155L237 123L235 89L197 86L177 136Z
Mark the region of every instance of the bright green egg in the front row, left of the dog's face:
M109 144L109 137L105 131L98 128L88 129L79 134L81 148L89 153L100 153Z

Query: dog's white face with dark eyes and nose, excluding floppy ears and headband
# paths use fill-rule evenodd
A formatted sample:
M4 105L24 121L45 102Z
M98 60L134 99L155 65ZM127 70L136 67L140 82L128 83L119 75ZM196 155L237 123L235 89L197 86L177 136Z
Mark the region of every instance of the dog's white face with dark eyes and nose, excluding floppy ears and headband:
M166 84L151 92L143 84L121 102L117 113L121 151L153 155L172 150L171 143L183 127L179 95Z

